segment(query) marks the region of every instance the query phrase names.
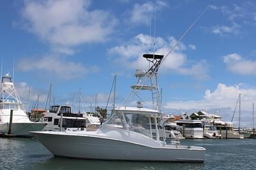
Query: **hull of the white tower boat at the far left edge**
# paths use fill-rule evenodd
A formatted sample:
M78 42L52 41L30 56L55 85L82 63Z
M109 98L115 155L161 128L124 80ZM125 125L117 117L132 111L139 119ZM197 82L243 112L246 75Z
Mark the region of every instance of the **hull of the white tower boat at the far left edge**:
M30 123L12 123L11 134L15 136L31 136L30 131L42 131L45 123L30 122ZM0 133L6 134L9 131L9 123L0 123Z

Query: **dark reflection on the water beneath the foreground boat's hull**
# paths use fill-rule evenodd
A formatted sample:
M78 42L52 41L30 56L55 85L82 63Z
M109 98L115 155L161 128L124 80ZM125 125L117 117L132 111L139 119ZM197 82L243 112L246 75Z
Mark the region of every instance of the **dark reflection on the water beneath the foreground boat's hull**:
M84 160L65 157L51 157L36 169L204 169L204 163L177 162L127 162L110 160Z

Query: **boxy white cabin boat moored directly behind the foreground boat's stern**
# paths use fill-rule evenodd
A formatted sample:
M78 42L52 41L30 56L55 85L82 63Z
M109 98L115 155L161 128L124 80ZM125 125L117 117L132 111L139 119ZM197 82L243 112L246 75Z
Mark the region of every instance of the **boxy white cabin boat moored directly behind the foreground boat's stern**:
M204 129L201 120L176 120L175 123L183 127L183 136L190 139L204 138Z

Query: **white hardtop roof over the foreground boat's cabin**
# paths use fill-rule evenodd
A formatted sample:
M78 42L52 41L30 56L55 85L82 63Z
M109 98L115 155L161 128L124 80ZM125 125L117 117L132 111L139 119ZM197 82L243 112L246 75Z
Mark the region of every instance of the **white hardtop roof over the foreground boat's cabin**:
M135 108L135 107L117 107L115 108L116 112L122 112L122 113L133 113L133 114L145 114L145 115L157 115L160 112L157 110L152 110L148 108Z

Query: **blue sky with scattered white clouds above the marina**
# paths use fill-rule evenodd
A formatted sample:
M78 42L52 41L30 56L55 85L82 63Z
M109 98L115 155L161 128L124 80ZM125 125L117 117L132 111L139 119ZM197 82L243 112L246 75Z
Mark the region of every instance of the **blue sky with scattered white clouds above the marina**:
M0 1L2 74L14 68L21 99L32 106L39 95L42 108L50 84L56 104L77 103L80 89L87 108L95 96L103 108L116 74L118 106L135 70L148 69L142 54L154 42L168 53L209 4L159 69L163 110L206 110L230 121L241 94L241 120L252 125L255 1Z

